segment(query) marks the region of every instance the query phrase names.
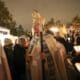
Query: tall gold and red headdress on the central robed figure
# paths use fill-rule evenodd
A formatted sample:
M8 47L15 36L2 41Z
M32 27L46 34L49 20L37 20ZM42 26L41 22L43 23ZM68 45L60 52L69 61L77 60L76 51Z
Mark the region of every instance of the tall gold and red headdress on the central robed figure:
M41 14L37 11L34 10L32 13L33 17L33 32L39 33L40 31L44 30L44 24L45 24L45 17L41 16Z

